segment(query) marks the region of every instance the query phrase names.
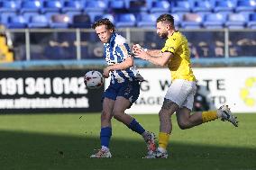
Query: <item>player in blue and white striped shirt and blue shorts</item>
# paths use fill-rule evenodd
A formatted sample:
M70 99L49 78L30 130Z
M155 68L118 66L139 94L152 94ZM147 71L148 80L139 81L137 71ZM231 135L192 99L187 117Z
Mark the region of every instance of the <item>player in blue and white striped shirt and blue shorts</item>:
M136 67L127 40L115 33L114 24L108 19L101 19L93 24L99 39L104 43L106 63L103 76L111 77L110 85L103 95L103 111L101 114L100 141L101 148L91 157L112 157L109 143L112 136L111 119L123 122L129 129L142 135L151 154L155 146L153 133L144 130L142 125L132 116L125 113L137 100L140 94L140 82L143 80Z

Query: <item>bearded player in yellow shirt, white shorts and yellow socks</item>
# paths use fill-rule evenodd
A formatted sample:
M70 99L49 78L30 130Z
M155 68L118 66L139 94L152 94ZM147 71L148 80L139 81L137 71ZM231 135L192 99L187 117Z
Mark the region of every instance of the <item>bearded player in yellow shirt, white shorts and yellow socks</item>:
M181 32L175 30L174 19L170 14L162 14L157 19L157 33L160 38L167 39L161 50L142 49L140 45L133 46L136 58L148 60L152 64L162 67L167 66L171 72L171 85L159 112L159 147L153 154L149 154L145 158L168 157L167 146L172 130L170 116L174 112L177 115L178 126L182 130L218 118L222 121L232 122L235 127L238 126L236 117L233 116L227 105L221 106L216 111L191 114L197 86L196 77L191 69L187 39Z

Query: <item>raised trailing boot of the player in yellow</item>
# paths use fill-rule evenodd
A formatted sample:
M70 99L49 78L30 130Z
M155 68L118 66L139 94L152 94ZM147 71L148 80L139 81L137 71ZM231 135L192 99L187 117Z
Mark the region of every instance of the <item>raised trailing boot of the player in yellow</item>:
M238 127L238 121L236 120L237 117L233 115L233 113L228 108L228 105L221 106L217 113L222 121L230 121L233 126Z

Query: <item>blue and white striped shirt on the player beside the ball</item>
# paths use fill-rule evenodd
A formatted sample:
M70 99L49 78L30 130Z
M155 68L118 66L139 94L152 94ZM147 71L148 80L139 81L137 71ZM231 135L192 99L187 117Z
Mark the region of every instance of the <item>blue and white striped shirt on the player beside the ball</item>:
M125 58L132 57L127 40L117 33L113 33L109 42L104 43L105 60L109 66L122 63ZM123 83L136 79L138 70L136 67L128 67L125 70L111 72L111 83Z

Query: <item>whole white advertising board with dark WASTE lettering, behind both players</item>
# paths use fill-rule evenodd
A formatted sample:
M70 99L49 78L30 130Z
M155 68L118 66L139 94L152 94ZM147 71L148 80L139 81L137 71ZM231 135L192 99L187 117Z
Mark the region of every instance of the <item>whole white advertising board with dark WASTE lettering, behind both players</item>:
M194 68L200 93L211 109L228 104L233 112L256 112L256 67ZM167 68L141 68L146 79L141 94L128 113L158 113L170 84Z

